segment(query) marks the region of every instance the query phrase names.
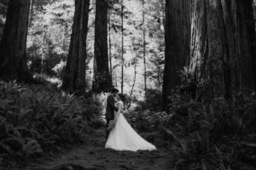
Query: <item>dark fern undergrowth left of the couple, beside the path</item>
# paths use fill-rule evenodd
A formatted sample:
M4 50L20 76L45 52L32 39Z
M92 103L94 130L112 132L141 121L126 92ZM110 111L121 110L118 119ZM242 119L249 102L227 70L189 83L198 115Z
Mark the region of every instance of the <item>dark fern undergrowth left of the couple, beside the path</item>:
M98 102L50 86L0 82L0 167L86 141Z

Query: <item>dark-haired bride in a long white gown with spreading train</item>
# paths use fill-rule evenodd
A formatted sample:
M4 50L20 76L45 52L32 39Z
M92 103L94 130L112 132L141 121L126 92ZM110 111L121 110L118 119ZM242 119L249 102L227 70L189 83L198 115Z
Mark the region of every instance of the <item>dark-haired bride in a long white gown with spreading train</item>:
M118 94L116 106L119 111L114 112L113 128L108 135L105 148L113 150L156 150L153 144L143 139L125 120L124 111L124 94Z

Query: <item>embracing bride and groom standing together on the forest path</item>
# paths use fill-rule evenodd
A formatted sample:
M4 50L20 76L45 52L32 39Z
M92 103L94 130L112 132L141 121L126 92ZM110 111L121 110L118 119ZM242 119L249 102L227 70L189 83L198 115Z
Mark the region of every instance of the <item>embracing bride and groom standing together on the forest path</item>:
M126 121L125 95L113 88L108 95L106 107L106 139L105 148L113 150L156 150L153 144L143 139Z

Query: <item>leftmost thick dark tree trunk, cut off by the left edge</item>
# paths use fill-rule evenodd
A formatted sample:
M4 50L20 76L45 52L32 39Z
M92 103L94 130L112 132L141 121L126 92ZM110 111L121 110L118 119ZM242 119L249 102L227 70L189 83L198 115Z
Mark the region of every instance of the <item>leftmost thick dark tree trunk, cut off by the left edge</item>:
M10 0L0 44L0 77L30 82L26 64L26 36L30 0Z

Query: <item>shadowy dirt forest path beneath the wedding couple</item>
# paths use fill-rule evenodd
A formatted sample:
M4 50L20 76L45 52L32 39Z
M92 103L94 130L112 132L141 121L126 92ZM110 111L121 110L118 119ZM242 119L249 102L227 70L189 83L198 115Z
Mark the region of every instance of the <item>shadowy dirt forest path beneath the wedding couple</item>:
M87 144L67 150L51 160L32 164L23 170L168 170L172 169L172 153L165 148L155 151L115 151L104 149L104 129L98 129L89 135ZM157 144L156 144L157 145ZM73 168L54 168L67 163ZM80 167L75 167L79 165Z

